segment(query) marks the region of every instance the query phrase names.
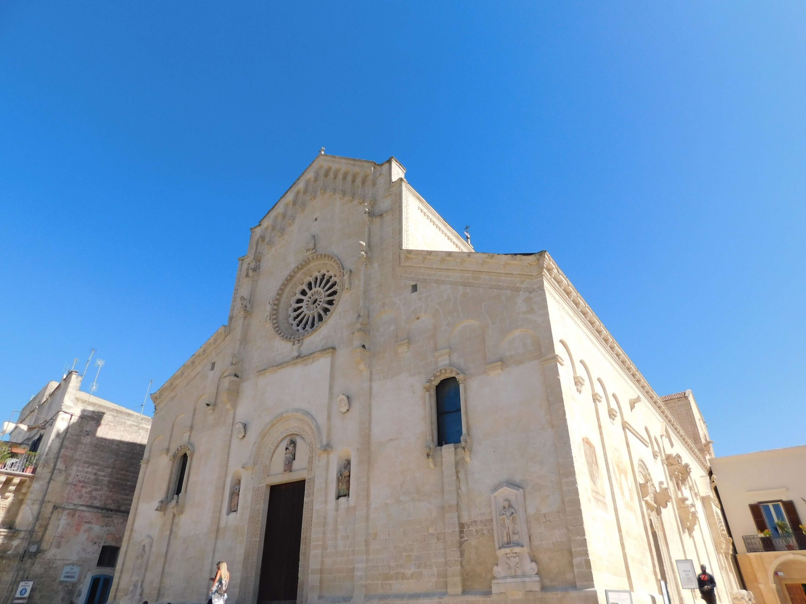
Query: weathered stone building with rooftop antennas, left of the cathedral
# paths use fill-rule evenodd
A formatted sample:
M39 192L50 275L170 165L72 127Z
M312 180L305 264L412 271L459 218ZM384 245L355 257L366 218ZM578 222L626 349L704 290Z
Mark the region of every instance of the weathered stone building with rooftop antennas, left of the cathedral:
M70 371L0 442L0 586L11 602L102 604L123 542L151 418L79 390Z

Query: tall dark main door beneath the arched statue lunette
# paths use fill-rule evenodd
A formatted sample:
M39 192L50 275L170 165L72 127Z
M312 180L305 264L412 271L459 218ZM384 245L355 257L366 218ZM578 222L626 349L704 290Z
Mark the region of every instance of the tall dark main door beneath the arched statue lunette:
M269 487L258 602L297 600L304 499L304 480Z

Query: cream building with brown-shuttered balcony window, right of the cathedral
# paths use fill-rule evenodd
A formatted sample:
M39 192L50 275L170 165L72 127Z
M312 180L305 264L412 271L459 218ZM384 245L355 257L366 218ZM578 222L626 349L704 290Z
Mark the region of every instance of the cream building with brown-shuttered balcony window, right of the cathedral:
M806 445L711 462L747 589L758 604L806 604Z

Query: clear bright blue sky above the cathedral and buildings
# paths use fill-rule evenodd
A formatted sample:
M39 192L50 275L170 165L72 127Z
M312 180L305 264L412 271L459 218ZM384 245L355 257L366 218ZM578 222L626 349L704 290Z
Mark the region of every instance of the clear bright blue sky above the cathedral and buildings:
M804 444L804 109L802 2L4 0L0 416L92 348L139 407L324 146L549 250L717 454Z

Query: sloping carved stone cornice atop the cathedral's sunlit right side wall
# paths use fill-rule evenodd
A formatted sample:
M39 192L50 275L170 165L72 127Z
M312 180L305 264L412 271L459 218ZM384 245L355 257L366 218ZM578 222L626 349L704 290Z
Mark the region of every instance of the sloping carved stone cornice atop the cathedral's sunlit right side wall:
M577 312L578 316L584 320L584 323L586 323L591 329L592 333L596 335L596 339L600 342L600 344L604 346L605 350L609 351L611 357L617 361L619 365L621 365L621 368L625 370L635 385L638 386L644 395L646 395L646 399L650 401L655 409L658 410L667 425L671 426L671 428L675 431L679 441L683 443L683 446L685 446L686 449L688 449L688 452L691 453L692 457L703 467L704 470L708 470L708 461L705 461L705 458L702 456L702 454L696 449L692 441L689 440L685 432L683 432L683 428L680 428L675 418L666 408L666 405L663 404L663 401L660 399L658 394L650 386L650 383L646 381L646 378L644 378L644 376L638 370L638 367L635 366L634 362L629 359L624 350L621 349L621 346L618 345L616 338L614 338L605 328L605 325L600 321L599 317L596 316L596 313L593 312L592 308L588 306L588 303L585 302L583 297L580 296L580 292L576 291L576 288L563 274L563 271L560 271L554 259L552 259L547 252L542 252L542 254L545 254L543 257L545 263L542 267L542 273L546 282L550 283L555 292L559 293L559 295L571 306L571 308Z

